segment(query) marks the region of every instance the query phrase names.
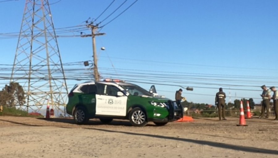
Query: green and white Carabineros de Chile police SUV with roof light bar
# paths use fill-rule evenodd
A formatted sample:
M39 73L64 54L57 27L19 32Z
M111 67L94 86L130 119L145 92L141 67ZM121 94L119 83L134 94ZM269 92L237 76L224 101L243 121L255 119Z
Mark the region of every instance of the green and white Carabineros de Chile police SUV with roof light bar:
M151 93L140 86L120 80L77 84L68 94L66 112L77 124L86 124L90 118L103 123L113 119L128 119L133 126L142 127L153 121L166 125L182 117L181 106L170 99Z

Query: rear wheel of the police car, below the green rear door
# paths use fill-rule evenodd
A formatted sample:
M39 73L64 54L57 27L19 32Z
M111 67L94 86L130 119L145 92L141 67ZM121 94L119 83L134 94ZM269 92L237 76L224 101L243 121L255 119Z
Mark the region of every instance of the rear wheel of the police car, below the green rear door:
M84 107L77 107L74 110L74 121L78 125L87 124L89 121L87 111Z

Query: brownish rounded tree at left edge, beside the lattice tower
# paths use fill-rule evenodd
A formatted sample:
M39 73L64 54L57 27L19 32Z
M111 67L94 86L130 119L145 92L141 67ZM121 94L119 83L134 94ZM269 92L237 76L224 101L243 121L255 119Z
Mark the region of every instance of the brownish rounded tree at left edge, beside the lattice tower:
M23 87L17 82L11 82L10 85L0 91L0 104L6 107L15 107L15 105L23 105L25 96Z

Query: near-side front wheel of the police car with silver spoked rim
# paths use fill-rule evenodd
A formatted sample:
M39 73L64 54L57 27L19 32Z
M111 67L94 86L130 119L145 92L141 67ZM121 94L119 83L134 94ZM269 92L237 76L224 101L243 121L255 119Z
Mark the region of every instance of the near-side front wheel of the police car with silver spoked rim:
M138 107L129 112L128 119L130 123L136 127L143 127L148 124L145 111Z

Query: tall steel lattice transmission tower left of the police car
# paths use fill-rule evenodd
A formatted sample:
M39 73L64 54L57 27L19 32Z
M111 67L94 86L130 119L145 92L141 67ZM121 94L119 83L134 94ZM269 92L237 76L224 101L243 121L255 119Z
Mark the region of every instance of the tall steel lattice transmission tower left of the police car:
M26 0L11 81L24 88L25 110L38 112L49 101L56 114L65 111L68 91L48 0Z

